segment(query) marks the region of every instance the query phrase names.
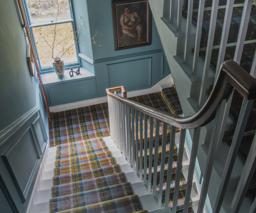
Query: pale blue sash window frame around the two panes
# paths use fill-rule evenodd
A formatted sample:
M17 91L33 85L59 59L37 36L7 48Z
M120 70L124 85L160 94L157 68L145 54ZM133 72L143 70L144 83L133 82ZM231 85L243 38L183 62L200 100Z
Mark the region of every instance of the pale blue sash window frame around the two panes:
M27 18L27 22L28 22L28 27L30 30L30 36L32 38L32 43L33 43L33 47L36 53L36 58L38 61L38 66L40 69L41 73L47 73L47 72L54 72L53 70L53 66L46 66L46 67L42 67L41 66L41 61L39 58L39 54L38 54L38 50L37 50L37 45L36 45L36 41L34 38L34 33L33 33L33 27L42 27L42 26L50 26L50 25L54 25L54 24L61 24L61 23L71 23L72 25L72 30L73 32L75 32L75 21L74 21L74 15L73 15L73 7L72 7L72 0L68 0L68 4L69 4L69 11L70 11L70 18L66 18L66 19L60 19L57 20L57 22L55 22L55 20L53 20L53 22L51 23L51 21L46 21L46 22L39 22L39 23L31 23L30 20L30 15L28 12L28 6L27 6L27 1L26 0L22 0L23 2L23 8L25 11L25 15ZM75 34L74 34L75 35ZM77 36L75 36L75 40L74 42L78 42ZM79 57L79 50L78 50L78 44L75 44L75 50L76 50L76 58L77 58L77 62L68 62L68 63L64 63L65 69L70 69L70 67L73 66L80 66L80 57Z

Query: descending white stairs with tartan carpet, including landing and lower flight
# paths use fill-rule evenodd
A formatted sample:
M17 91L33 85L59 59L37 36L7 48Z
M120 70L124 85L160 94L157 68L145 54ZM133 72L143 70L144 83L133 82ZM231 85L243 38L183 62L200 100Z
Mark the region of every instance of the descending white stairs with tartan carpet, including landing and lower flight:
M160 92L130 99L170 112ZM112 212L114 209L117 212L139 213L162 211L162 204L159 208L155 195L153 196L153 193L148 191L148 186L144 184L143 179L140 180L139 176L137 176L137 171L134 171L130 166L129 159L127 161L124 153L120 152L111 137L106 136L109 134L106 107L107 104L98 104L53 114L54 120L49 127L50 147L47 148L46 156L44 157L29 212ZM91 126L97 126L97 128L93 129L94 134L91 134L92 130L89 130ZM179 146L179 130L176 129L176 132L177 140L175 141L169 201L171 208ZM160 134L161 137L162 135ZM140 138L138 138L139 140ZM164 157L164 160L166 170L169 155L168 139L165 143L166 157ZM158 177L160 177L161 169L161 145L162 140L159 141L157 152L159 164L156 169L156 175ZM155 148L154 143L153 158L156 156ZM184 148L184 153L177 212L183 212L182 207L188 175L189 154L186 147ZM149 163L149 151L146 159ZM146 159L143 149L142 164ZM140 157L138 158L138 163L139 161ZM144 176L144 171L143 168L142 177ZM146 174L148 177L149 168L146 168ZM154 168L152 169L152 175L154 175ZM163 199L166 182L167 170L162 186ZM156 181L156 190L159 191L159 178ZM196 179L193 179L188 212L197 211L198 193L198 184ZM110 210L110 206L112 210Z

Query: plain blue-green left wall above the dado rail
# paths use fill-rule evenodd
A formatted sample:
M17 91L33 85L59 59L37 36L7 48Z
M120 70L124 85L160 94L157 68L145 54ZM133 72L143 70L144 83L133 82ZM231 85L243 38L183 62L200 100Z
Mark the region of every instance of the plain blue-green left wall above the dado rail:
M0 8L0 131L36 106L35 78L27 65L27 44L14 1Z

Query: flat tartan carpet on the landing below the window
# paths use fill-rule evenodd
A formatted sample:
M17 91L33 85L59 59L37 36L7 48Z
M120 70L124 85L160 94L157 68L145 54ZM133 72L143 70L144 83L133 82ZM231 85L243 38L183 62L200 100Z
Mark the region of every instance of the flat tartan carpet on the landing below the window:
M110 136L107 103L52 113L50 147Z

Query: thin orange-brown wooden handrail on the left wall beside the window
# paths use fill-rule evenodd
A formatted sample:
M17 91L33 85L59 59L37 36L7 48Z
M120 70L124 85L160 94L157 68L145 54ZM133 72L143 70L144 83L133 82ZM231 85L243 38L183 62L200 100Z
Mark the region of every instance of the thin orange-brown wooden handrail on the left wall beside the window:
M45 102L45 104L46 104L46 109L47 109L47 112L48 112L48 119L49 119L49 122L51 122L51 121L52 121L52 118L51 118L51 114L50 114L50 109L49 109L49 105L48 105L48 102L47 102L46 93L45 93L45 91L44 91L44 86L43 86L43 81L42 81L42 78L41 78L41 73L40 73L40 70L39 70L38 63L37 63L36 54L35 54L35 51L34 51L32 39L31 39L31 36L30 36L30 31L29 31L29 28L28 28L28 24L27 24L25 12L24 12L23 5L22 5L21 0L18 0L18 5L19 5L19 7L20 7L21 16L22 16L22 20L23 20L23 25L22 25L22 27L23 27L23 28L26 28L26 33L27 33L28 41L29 41L29 43L30 43L30 48L31 48L31 51L32 51L34 63L35 63L35 65L36 65L36 70L37 70L38 79L39 79L39 82L40 82L40 86L41 86L41 89L42 89L42 92L43 92L44 102Z

